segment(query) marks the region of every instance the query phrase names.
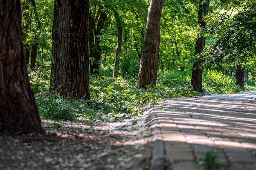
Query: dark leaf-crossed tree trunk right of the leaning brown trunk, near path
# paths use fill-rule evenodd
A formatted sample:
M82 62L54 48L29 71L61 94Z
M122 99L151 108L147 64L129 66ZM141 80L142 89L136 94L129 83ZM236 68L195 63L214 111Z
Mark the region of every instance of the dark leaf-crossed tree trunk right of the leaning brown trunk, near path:
M206 22L204 21L204 16L207 14L207 8L209 7L210 0L199 0L199 10L198 10L198 32L200 29L205 28ZM205 37L198 38L195 42L195 55L200 54L203 52L205 46ZM202 92L202 76L203 76L203 68L200 61L196 61L193 63L192 67L192 77L191 77L191 84L192 87L197 92Z

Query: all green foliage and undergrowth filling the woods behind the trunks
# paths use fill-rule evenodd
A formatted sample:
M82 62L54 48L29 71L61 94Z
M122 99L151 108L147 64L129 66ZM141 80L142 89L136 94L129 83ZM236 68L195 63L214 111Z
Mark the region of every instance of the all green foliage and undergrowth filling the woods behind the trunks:
M197 32L198 0L169 0L164 3L160 30L160 63L165 73L159 72L157 85L148 89L137 87L137 75L149 1L90 0L90 12L97 21L101 11L108 15L101 30L102 34L98 35L102 58L105 56L106 62L99 62L101 65L99 76L90 76L91 101L63 98L48 92L53 2L53 0L35 0L36 8L34 8L30 1L22 0L23 14L29 14L22 19L24 44L28 45L25 48L31 50L32 44L35 43L35 36L38 37L36 68L29 70L29 77L42 117L75 120L110 116L111 120L118 121L121 118L136 116L145 105L154 104L163 99L200 95L189 88ZM25 5L28 5L28 8L25 8ZM241 8L241 5L244 7ZM111 78L117 39L117 25L113 11L118 12L121 17L123 29L117 79ZM38 28L38 18L41 28ZM234 63L230 64L230 58L255 56L253 3L242 4L239 0L211 1L205 20L207 30L203 30L200 34L206 35L207 42L210 44L203 56L205 61L211 63L207 67L217 71L204 72L204 92L208 94L239 92L241 89L235 85L234 78L223 76L222 72L227 73L228 66L234 66ZM27 24L29 28L25 28ZM43 69L41 70L39 67L43 52ZM90 62L94 60L95 58L90 58ZM245 90L256 90L255 81L252 81L256 79L255 59L250 58L246 66L249 68L249 73L248 80L245 81ZM181 69L180 67L185 68L186 71L175 71Z

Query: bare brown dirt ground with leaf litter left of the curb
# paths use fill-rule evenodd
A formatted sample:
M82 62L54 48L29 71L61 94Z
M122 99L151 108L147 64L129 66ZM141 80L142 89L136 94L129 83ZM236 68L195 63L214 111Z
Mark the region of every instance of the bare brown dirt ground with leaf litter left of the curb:
M147 115L122 122L50 121L46 135L0 136L0 170L146 170Z

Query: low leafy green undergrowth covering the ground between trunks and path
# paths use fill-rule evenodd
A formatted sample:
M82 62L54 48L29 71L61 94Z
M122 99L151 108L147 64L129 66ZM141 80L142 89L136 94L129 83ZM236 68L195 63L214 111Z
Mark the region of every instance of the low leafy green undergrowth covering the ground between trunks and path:
M70 121L103 118L108 118L111 122L121 121L142 114L145 106L169 98L256 90L256 81L245 80L244 89L241 89L235 85L235 78L209 70L203 74L203 93L189 88L191 81L189 70L159 72L157 85L148 89L137 87L136 75L112 78L111 73L109 70L102 70L99 76L91 76L89 101L69 96L61 97L49 92L49 69L30 72L30 83L41 117Z

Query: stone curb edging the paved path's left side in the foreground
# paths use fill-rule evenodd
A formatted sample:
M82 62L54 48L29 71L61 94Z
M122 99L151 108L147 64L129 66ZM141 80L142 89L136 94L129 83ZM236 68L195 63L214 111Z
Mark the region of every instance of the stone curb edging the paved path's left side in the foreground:
M157 115L154 112L154 110L151 111L150 118L151 120L155 118L156 119L155 124L159 124ZM159 127L154 127L154 129L152 130L152 135L153 135L154 147L153 147L153 158L151 160L150 170L165 170L165 151L164 151L163 138L160 130L160 124L159 124Z

